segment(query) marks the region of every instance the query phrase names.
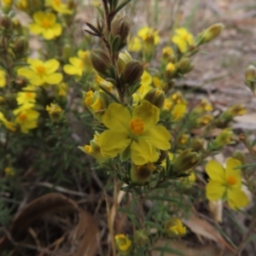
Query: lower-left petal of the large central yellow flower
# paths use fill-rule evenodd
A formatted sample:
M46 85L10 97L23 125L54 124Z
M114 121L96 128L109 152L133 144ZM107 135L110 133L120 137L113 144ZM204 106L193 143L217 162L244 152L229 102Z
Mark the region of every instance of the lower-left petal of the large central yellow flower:
M131 143L131 138L125 131L103 131L98 138L103 156L113 158L122 153Z

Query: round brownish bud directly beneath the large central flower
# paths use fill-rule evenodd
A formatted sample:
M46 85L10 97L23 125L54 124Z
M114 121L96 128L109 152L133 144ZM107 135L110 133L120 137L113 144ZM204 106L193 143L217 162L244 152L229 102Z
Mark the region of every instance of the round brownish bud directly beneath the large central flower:
M152 172L154 172L155 166L152 164L146 164L143 166L131 165L131 181L137 184L143 184L148 181L151 177Z

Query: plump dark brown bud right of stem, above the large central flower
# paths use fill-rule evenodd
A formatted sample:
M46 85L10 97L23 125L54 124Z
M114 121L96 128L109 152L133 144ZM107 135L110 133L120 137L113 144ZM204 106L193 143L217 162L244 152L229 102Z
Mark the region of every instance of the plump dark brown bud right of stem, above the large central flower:
M143 64L140 61L130 61L124 70L125 84L136 84L143 75Z

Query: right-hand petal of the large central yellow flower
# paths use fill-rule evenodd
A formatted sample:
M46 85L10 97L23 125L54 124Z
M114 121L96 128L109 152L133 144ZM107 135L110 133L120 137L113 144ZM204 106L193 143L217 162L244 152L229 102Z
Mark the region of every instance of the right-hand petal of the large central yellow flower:
M140 137L147 139L148 142L154 147L162 150L171 148L170 139L171 134L166 130L166 127L161 125L154 125L147 131L143 131Z

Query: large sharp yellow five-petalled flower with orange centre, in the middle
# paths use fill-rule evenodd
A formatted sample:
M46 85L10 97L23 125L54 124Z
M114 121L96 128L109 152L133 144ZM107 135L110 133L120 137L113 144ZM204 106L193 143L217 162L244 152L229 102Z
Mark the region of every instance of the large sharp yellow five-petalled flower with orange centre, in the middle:
M137 166L158 160L159 149L171 147L169 131L156 125L159 118L160 109L148 101L142 101L132 114L125 106L111 103L102 115L102 123L109 129L103 131L98 140L102 155L114 158L125 151L126 160L131 155Z

